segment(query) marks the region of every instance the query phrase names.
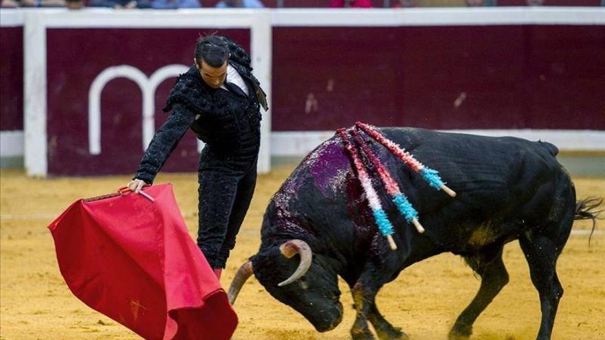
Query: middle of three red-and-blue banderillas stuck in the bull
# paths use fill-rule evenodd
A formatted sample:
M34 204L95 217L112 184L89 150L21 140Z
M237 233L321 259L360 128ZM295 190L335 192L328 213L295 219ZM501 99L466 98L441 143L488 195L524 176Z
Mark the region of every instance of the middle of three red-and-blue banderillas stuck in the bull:
M384 188L386 188L386 192L393 197L393 203L397 207L397 210L403 215L408 222L411 222L416 230L419 233L424 232L424 228L418 221L418 212L414 207L412 207L412 203L408 201L406 195L404 195L399 189L399 185L391 176L391 173L382 165L380 159L374 155L374 152L367 146L364 142L364 139L360 136L360 134L352 130L351 135L353 135L353 140L355 143L362 148L364 155L371 161L372 165L380 175L380 179L382 179L382 183L384 183Z

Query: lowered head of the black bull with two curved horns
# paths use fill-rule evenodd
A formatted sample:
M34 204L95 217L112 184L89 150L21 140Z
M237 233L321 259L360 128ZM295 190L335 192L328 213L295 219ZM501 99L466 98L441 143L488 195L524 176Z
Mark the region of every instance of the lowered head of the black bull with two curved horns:
M289 240L280 247L261 249L237 271L229 288L231 304L253 273L273 297L297 310L319 332L342 321L336 271L322 256L313 256L307 242Z

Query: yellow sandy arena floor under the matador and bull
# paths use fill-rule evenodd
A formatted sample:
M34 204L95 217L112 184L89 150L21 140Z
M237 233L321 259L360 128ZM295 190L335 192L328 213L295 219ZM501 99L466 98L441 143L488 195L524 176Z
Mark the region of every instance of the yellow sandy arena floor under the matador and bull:
M292 168L259 177L252 207L223 273L223 286L241 263L256 253L267 201ZM162 174L156 183L171 182L190 234L197 229L197 175ZM107 194L129 177L30 179L23 172L0 172L0 339L140 339L115 321L96 313L69 291L58 271L47 225L77 199ZM605 179L576 178L578 197L605 196ZM605 229L605 221L600 224ZM586 221L574 229L588 229ZM569 239L558 262L565 294L553 339L605 339L605 235ZM535 339L540 319L538 293L517 242L505 247L510 282L478 318L471 339ZM450 326L479 286L461 258L442 254L415 264L387 284L377 297L386 319L412 339L445 339ZM348 288L341 282L345 306L342 324L325 334L277 302L256 280L239 295L236 311L239 340L349 339L355 313Z

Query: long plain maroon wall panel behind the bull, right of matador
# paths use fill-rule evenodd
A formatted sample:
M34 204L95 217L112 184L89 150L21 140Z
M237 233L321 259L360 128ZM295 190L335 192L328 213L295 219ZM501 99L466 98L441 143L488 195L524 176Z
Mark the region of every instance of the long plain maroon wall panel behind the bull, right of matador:
M273 131L605 129L604 26L274 27L273 46Z

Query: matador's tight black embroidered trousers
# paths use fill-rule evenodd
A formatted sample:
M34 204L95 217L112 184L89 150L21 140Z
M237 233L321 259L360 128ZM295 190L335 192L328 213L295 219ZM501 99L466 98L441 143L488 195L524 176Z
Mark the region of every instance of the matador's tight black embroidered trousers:
M225 268L256 186L256 157L245 164L200 157L197 246L212 268Z

